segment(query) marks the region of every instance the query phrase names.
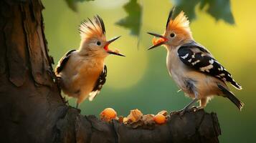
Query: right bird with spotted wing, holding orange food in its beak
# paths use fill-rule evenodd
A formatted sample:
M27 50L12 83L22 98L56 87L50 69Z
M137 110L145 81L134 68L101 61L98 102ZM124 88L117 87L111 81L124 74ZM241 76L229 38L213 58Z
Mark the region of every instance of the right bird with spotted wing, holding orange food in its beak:
M194 41L189 20L184 12L181 11L174 19L173 14L174 8L169 13L163 35L148 32L158 37L153 39L153 46L148 49L161 45L166 47L166 65L169 74L179 89L193 99L179 113L184 114L194 109L191 107L197 101L199 101L199 107L196 109L206 107L207 102L214 95L227 97L241 110L244 103L229 90L227 82L237 89L242 89L240 84L234 81L229 71L214 59L204 46Z

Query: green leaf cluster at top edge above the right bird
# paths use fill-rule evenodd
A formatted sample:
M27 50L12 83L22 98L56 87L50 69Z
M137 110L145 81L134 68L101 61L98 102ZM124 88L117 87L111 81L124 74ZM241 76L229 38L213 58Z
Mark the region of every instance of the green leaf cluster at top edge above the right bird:
M199 4L199 9L204 10L214 17L216 21L222 19L229 24L234 24L234 16L230 9L229 0L172 0L176 6L176 14L180 11L184 11L192 21L196 19L195 8ZM174 14L174 16L176 16Z

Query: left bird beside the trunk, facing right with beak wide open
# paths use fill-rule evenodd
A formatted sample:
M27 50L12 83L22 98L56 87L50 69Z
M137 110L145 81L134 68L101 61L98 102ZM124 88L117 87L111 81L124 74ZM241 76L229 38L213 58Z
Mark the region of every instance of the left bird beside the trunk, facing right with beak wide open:
M108 45L120 36L106 40L105 26L100 16L80 24L80 48L72 49L60 59L55 74L62 91L77 98L77 107L87 97L92 101L105 84L107 66L105 58L110 54L124 56Z

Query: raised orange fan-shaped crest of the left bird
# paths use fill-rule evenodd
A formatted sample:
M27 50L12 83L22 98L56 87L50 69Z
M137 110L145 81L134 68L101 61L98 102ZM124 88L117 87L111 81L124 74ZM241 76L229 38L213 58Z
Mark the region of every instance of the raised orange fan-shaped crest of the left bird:
M79 27L80 36L82 39L88 39L91 37L105 36L105 25L103 19L100 16L94 16L93 20L88 19L83 21Z

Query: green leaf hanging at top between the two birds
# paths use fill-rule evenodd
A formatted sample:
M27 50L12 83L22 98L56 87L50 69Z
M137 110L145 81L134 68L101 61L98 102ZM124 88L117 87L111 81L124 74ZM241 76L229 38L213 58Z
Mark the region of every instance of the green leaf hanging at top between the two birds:
M137 0L130 0L123 8L128 16L124 19L120 19L120 21L117 21L115 24L130 29L132 35L139 36L141 30L142 6L138 4Z

